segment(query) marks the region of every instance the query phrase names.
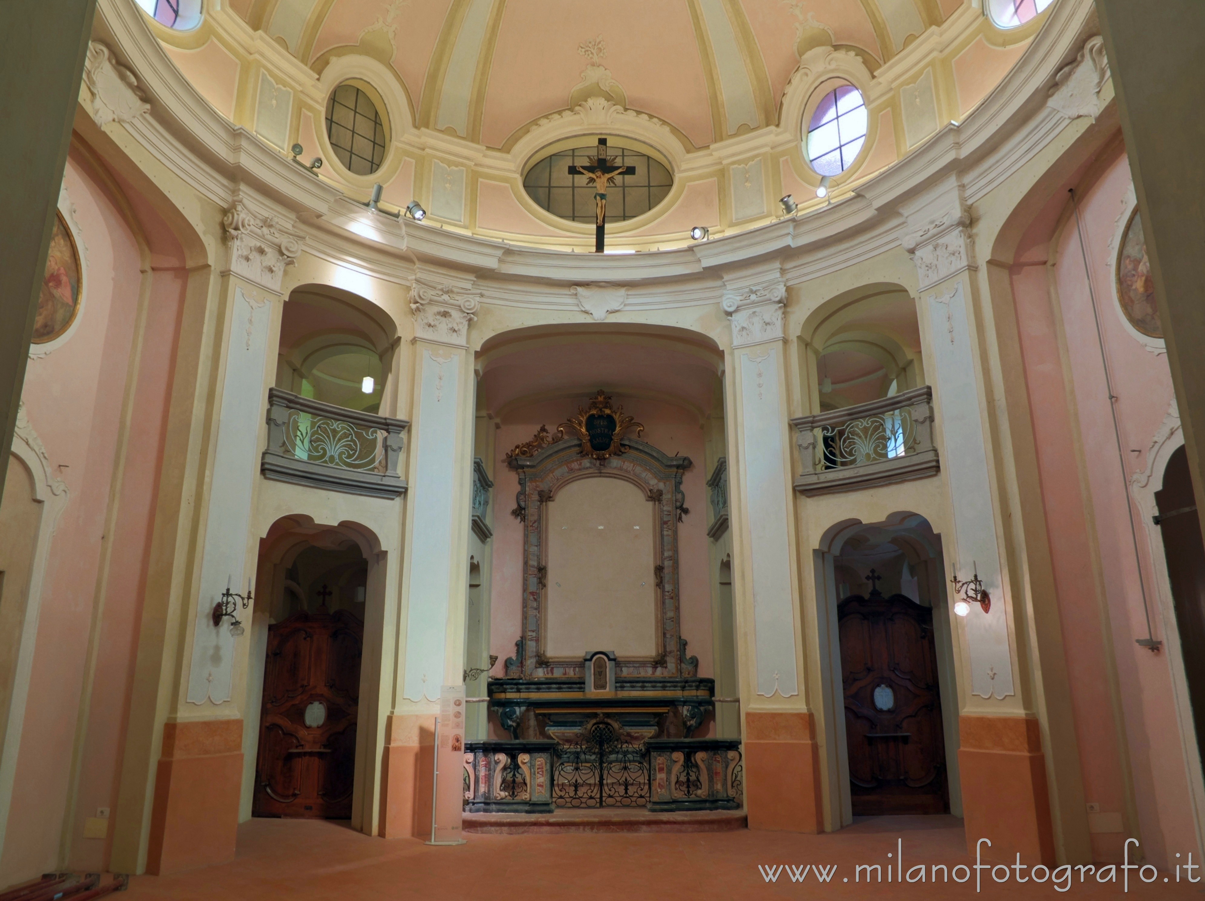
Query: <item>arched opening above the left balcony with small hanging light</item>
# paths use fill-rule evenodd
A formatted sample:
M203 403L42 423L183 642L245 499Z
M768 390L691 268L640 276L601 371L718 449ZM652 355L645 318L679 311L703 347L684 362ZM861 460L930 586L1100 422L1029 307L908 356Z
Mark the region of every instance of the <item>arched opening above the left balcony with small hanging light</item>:
M337 407L384 413L395 336L369 306L329 287L294 290L281 318L276 387Z

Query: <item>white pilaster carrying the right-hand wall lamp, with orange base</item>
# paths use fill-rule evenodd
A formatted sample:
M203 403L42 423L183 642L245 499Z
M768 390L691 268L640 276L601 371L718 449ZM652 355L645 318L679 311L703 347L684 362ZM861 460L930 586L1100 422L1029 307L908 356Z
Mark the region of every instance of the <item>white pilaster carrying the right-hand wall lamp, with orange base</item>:
M998 523L1005 516L991 463L989 364L981 360L978 284L970 207L954 176L906 208L904 249L916 264L925 370L933 384L941 475L953 534L941 536L946 573L975 572L992 597L951 616L966 665L960 694L958 765L966 841L991 838L993 859L1054 862L1041 728L1015 684L1015 595ZM953 603L953 596L950 602ZM969 684L966 684L969 683Z

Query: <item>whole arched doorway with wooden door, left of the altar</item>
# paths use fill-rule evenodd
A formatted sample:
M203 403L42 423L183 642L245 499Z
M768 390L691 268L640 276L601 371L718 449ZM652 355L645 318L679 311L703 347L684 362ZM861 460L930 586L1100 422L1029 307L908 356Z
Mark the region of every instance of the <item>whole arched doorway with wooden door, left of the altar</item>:
M371 830L382 556L362 526L300 516L278 519L260 541L246 815L349 819Z

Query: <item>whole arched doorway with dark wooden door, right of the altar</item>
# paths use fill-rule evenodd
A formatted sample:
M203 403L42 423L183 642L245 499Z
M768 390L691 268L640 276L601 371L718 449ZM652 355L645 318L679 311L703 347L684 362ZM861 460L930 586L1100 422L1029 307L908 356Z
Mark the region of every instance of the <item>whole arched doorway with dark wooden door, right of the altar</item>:
M830 529L817 550L828 608L840 822L962 815L958 703L941 540L900 513Z

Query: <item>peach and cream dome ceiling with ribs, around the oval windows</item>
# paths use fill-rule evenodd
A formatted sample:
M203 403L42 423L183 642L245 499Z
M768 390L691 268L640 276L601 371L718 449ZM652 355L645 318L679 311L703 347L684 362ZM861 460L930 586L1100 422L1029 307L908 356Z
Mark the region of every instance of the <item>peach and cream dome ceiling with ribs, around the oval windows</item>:
M487 236L584 241L524 173L574 135L625 136L675 182L616 229L639 249L760 224L783 194L811 201L801 137L827 86L856 86L869 123L834 187L881 171L964 118L1044 18L999 28L970 0L206 0L193 31L153 26L219 112L305 160L336 158L328 99L363 87L396 147L372 172L386 201ZM353 169L321 175L371 188Z

